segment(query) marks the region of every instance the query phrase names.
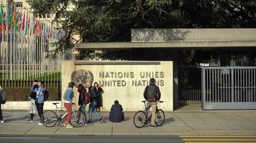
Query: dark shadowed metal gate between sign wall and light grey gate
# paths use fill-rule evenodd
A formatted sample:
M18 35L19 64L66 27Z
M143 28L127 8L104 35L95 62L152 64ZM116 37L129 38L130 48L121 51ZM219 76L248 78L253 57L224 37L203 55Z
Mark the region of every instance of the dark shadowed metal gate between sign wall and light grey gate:
M180 104L201 103L201 68L178 68L178 101Z

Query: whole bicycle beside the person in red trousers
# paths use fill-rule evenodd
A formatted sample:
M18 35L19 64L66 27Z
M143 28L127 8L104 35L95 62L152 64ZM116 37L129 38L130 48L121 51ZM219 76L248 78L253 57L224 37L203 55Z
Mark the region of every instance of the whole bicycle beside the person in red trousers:
M58 111L58 106L57 104L60 103L52 103L56 106L56 109L54 111L47 110L42 114L42 124L45 125L45 127L53 127L55 124L60 125L60 123L63 123L65 121L65 117L68 116L68 112L65 114L59 114ZM72 114L71 114L71 119L70 119L70 124L73 127L82 127L83 124L86 123L86 117L82 112L79 111L74 111L73 110L73 104L72 105Z

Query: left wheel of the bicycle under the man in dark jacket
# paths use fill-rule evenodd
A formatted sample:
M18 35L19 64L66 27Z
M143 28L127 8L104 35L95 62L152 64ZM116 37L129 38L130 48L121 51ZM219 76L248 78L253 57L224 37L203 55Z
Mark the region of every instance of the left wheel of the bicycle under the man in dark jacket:
M137 128L142 128L147 124L147 116L145 112L143 111L138 111L134 114L133 117L133 124Z

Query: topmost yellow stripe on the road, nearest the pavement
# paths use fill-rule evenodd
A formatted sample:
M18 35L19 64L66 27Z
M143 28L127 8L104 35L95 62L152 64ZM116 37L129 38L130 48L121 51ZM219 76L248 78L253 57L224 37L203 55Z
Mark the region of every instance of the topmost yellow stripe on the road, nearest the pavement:
M182 135L179 136L181 138L193 138L193 137L201 137L201 138L209 138L209 137L218 137L218 138L256 138L255 135Z

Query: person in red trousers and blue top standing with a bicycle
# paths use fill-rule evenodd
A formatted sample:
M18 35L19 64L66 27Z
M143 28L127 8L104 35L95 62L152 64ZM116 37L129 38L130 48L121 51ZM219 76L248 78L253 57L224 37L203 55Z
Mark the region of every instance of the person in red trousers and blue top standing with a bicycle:
M73 87L75 86L75 84L73 82L68 83L68 89L65 91L64 93L64 107L65 109L67 109L68 115L66 117L66 124L64 125L66 128L73 128L70 125L70 119L71 119L71 114L72 114L72 105L75 104L73 102L73 98L74 98L74 92L73 92Z

